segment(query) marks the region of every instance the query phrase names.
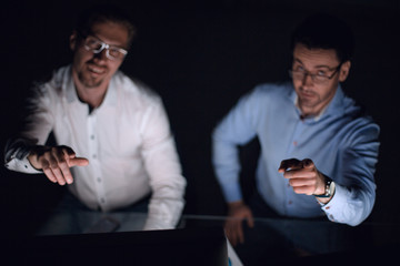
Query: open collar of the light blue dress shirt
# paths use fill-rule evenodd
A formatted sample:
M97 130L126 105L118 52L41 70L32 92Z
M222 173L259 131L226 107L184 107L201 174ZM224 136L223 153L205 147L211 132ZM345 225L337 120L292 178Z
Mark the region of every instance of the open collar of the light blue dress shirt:
M294 91L294 88L290 92L290 99L293 102L293 104L300 115L301 112L300 112L300 109L298 105L299 99ZM318 122L319 120L321 120L323 116L327 116L327 115L341 115L344 112L343 99L344 99L344 93L343 93L341 85L339 84L331 102L326 108L323 108L323 110L321 110L321 112L319 114L317 114L310 119L312 119L314 122Z

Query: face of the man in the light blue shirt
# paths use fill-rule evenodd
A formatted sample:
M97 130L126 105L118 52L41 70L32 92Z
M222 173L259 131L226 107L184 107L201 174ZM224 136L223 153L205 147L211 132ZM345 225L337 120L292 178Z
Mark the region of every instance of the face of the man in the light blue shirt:
M338 83L347 79L349 69L350 61L341 64L334 50L310 50L297 44L292 80L302 113L316 115L322 111L333 99Z

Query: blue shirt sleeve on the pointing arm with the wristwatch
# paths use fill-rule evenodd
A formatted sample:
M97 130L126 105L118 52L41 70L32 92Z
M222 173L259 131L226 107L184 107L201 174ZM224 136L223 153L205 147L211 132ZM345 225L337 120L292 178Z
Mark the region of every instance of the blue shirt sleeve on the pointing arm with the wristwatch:
M352 145L343 152L341 158L341 175L334 180L334 195L321 207L330 221L357 226L372 212L378 135L379 126L371 123L351 137Z

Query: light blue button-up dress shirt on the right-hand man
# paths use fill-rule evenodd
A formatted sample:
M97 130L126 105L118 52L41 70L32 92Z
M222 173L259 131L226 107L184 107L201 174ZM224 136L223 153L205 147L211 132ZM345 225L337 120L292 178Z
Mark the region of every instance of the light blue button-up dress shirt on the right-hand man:
M212 134L212 162L227 202L242 200L238 145L258 136L261 153L256 172L258 192L277 213L288 217L328 216L358 225L372 211L379 126L339 85L317 117L300 119L291 83L261 84L242 96ZM311 158L336 183L332 200L296 194L278 173L282 160Z

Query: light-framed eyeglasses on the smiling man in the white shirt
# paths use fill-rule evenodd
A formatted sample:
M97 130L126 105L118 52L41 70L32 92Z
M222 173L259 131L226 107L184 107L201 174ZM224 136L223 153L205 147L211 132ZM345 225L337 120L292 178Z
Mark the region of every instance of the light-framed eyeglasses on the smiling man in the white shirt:
M128 54L127 50L107 44L91 35L84 39L83 47L93 53L101 53L101 51L106 49L106 57L110 60L122 60Z

